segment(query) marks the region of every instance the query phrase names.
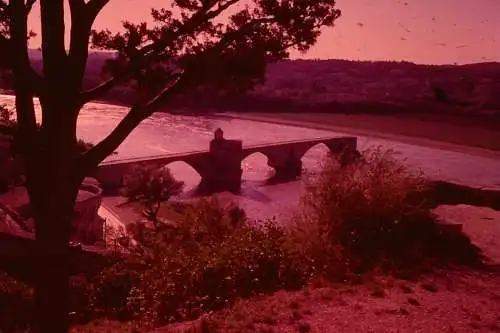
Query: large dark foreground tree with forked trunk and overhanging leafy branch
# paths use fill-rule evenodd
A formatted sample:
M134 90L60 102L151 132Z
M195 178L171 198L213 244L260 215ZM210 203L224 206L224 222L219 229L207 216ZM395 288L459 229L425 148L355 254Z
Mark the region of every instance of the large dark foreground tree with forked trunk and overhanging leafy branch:
M17 140L36 226L37 332L68 330L68 240L83 178L158 106L200 86L251 88L268 63L287 58L292 48L306 51L340 16L334 0L165 0L165 8L151 10L148 23L124 22L118 32L93 30L110 1L68 0L69 24L65 0L0 0L0 69L12 73ZM40 7L41 72L29 58L33 6ZM84 90L91 48L112 50L115 58L102 84ZM137 98L126 116L92 149L79 152L82 107L130 82ZM41 104L41 127L34 97Z

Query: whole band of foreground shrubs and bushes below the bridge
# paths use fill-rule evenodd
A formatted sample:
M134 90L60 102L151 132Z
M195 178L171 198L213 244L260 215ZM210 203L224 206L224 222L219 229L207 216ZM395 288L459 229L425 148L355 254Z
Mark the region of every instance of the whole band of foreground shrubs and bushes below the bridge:
M388 152L365 152L363 162L346 168L328 157L307 184L288 223L250 221L216 198L163 203L156 223L128 228L129 255L110 254L97 275L72 276L74 332L147 331L317 279L346 284L374 274L408 278L436 267L483 266L466 235L436 222L425 177ZM158 222L166 216L173 223ZM0 331L27 328L32 295L29 283L2 275L0 308L7 311ZM210 317L203 323L202 331L218 331Z

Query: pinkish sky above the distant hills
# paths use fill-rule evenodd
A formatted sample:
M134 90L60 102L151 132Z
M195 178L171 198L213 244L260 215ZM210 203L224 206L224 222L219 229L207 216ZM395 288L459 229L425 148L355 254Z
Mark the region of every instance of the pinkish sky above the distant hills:
M169 0L111 0L95 28L144 21ZM342 17L293 58L405 60L422 64L500 61L500 0L337 0ZM39 30L34 10L30 25ZM35 39L33 46L40 41Z

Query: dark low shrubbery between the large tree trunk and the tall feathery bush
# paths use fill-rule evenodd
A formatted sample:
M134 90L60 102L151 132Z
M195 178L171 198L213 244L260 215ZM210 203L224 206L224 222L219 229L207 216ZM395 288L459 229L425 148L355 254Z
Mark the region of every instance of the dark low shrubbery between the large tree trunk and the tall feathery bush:
M216 198L175 206L181 218L173 225L129 228L136 245L126 259L97 276L72 277L73 323L110 318L153 327L307 281L274 222L252 225L237 205Z

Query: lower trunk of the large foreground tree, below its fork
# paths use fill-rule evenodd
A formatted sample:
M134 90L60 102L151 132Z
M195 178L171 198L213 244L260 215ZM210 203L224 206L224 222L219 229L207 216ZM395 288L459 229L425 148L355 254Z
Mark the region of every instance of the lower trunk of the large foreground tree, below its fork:
M67 333L69 240L81 181L70 163L49 158L40 162L41 167L28 177L27 183L36 227L34 331Z

